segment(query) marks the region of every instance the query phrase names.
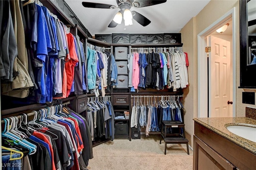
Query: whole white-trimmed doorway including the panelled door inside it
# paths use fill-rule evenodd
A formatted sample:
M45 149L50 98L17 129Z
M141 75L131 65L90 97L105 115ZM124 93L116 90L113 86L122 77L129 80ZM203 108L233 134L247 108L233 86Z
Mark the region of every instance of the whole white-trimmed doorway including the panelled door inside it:
M229 24L222 34L216 30ZM198 34L198 117L236 113L235 8ZM211 52L206 53L206 47Z

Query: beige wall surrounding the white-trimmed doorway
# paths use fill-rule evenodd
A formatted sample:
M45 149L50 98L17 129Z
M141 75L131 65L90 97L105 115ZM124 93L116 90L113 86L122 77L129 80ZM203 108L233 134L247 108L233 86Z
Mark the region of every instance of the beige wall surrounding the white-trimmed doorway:
M190 134L190 141L193 140L194 134L194 117L198 116L198 45L197 35L205 30L208 26L221 18L224 14L236 7L236 87L240 85L240 33L239 33L239 0L211 0L205 8L194 18L192 18L182 28L183 51L188 53L189 67L188 77L190 86L184 89L184 108L186 114L184 121L186 131ZM236 88L236 116L245 116L245 107L256 107L255 105L242 104L242 91L254 91ZM193 147L193 145L192 145Z

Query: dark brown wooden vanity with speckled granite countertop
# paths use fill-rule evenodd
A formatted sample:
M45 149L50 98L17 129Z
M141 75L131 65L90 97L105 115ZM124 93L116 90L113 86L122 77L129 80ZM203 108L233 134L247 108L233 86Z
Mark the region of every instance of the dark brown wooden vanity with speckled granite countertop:
M232 125L253 126L256 125L256 120L247 117L195 118L193 120L194 170L256 169L256 142L233 134L227 129ZM256 131L254 133L256 134Z

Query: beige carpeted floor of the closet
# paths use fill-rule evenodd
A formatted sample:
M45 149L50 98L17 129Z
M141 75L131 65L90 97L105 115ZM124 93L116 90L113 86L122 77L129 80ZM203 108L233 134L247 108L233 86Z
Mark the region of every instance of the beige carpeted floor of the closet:
M192 170L193 152L187 154L186 144L159 144L160 135L141 139L114 139L93 148L94 158L89 170Z

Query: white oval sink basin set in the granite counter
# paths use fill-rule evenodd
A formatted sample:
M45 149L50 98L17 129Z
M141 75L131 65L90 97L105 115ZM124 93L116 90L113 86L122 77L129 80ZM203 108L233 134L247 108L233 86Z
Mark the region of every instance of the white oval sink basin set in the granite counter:
M227 129L230 132L242 138L246 138L248 140L256 142L256 126L255 125L244 124L242 126L228 126Z

